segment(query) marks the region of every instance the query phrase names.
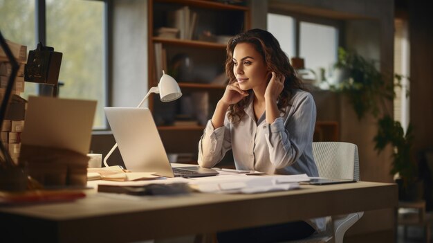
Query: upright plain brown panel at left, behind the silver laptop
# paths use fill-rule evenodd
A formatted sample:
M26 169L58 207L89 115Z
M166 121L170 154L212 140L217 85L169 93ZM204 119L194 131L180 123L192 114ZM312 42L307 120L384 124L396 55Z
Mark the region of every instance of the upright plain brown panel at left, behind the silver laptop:
M95 109L96 100L30 96L21 143L87 154Z

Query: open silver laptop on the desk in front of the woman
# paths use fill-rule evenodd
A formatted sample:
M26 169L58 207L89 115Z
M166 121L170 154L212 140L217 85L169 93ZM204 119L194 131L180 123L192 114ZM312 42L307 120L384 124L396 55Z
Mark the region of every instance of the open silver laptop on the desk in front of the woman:
M147 108L105 107L105 115L127 170L163 177L208 177L216 170L197 166L172 168L151 112Z

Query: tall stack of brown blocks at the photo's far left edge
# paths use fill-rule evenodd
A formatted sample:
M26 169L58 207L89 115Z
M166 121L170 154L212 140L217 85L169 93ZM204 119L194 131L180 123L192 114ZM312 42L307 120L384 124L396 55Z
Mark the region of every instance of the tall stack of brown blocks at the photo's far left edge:
M10 51L12 51L12 55L14 55L19 63L19 70L12 87L8 112L3 124L1 124L1 143L3 143L4 147L8 148L10 156L17 163L26 111L26 100L21 98L21 93L24 92L24 64L27 62L27 46L8 40L6 42ZM12 66L3 48L0 48L0 102L5 98L6 87L8 86L11 73Z

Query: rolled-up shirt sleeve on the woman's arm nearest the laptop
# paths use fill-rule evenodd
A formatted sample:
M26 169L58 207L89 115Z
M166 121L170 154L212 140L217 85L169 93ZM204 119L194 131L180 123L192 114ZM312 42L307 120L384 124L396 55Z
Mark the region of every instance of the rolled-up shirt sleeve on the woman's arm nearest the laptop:
M214 129L211 120L208 120L203 135L199 141L199 165L212 168L223 159L225 152L231 148L230 127L227 119L222 127Z

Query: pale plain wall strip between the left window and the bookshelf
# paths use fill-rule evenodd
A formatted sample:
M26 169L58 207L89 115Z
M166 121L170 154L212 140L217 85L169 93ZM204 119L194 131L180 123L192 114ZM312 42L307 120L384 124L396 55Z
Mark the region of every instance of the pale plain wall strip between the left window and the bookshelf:
M147 1L113 1L111 106L136 107L147 93Z

